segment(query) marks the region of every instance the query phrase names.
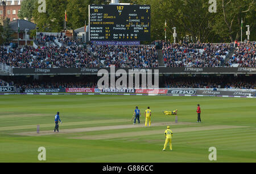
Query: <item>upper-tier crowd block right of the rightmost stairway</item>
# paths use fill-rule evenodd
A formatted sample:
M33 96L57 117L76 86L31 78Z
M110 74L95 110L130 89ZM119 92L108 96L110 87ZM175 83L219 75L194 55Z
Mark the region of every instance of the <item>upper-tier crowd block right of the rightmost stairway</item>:
M238 43L226 66L256 67L256 42Z

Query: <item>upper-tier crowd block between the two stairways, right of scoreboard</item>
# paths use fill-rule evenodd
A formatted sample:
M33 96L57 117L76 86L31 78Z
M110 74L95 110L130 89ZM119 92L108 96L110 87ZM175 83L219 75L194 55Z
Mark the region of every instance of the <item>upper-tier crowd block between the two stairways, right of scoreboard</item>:
M162 49L165 67L221 67L230 44L164 43Z

